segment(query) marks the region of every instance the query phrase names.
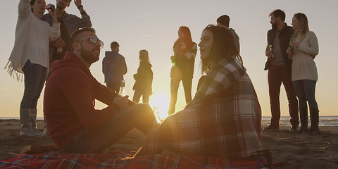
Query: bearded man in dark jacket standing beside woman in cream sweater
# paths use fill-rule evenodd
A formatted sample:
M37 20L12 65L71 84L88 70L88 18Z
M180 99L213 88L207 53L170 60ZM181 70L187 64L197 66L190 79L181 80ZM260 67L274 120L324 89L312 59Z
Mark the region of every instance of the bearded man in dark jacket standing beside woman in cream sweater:
M268 31L268 45L265 49L265 56L268 57L268 61L265 63L264 70L268 70L271 123L268 127L265 127L265 130L277 130L279 128L280 86L283 82L289 101L290 132L295 132L299 125L298 101L291 80L292 61L287 56L287 48L293 31L292 27L284 23L284 11L277 9L269 16L273 28Z

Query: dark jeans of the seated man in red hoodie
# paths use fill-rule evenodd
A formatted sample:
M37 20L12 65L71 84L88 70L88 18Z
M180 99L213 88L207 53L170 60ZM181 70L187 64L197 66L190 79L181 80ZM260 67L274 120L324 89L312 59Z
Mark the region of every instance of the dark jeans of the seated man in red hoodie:
M146 134L156 123L154 111L147 104L136 104L114 115L108 123L94 130L80 130L63 153L100 153L118 142L134 127Z

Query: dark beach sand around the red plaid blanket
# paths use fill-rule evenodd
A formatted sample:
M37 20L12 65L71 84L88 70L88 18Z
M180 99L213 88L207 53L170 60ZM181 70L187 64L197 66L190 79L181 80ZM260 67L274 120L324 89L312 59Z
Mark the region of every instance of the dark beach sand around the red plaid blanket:
M43 121L38 120L37 125L42 131ZM274 168L338 168L338 127L320 127L320 134L290 133L288 129L262 131L262 148L273 152L273 162L286 163ZM27 145L52 144L48 137L19 134L19 120L0 120L0 160L17 156ZM144 134L132 130L109 149L134 154L145 141Z

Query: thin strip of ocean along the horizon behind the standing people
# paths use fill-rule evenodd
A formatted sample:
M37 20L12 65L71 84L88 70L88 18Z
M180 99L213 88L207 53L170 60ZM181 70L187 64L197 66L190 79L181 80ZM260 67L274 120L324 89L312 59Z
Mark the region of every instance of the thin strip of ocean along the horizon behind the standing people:
M8 117L8 118L0 118L0 120L6 119L16 119L19 120L18 117ZM269 125L270 124L270 116L263 116L262 117L262 125ZM37 120L44 120L44 118L37 118ZM290 125L290 117L289 116L282 116L280 117L280 125L281 126L289 126ZM310 117L308 117L309 125L311 123ZM319 117L319 126L338 126L338 116L320 116Z

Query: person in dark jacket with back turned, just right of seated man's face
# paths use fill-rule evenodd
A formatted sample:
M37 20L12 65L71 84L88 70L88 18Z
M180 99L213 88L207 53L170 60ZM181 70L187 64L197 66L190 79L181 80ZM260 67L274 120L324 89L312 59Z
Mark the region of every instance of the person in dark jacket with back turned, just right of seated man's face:
M118 54L120 45L118 42L111 42L111 51L106 51L106 56L102 61L102 72L104 73L104 82L112 91L119 93L123 75L127 73L127 64L125 57Z

